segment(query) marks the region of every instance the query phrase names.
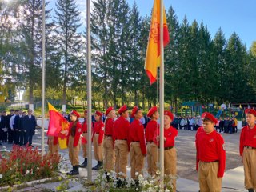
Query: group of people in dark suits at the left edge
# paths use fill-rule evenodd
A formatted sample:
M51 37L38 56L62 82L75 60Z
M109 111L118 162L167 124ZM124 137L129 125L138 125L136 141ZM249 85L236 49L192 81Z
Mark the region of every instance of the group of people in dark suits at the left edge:
M32 110L10 110L0 112L0 145L2 143L32 146L37 122Z

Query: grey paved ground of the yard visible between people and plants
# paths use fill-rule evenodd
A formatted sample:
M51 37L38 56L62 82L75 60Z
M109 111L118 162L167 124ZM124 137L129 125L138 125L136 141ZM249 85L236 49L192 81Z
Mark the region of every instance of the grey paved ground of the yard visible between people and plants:
M41 130L37 130L37 133L34 137L34 146L41 146ZM190 130L179 130L178 138L176 140L176 147L178 150L178 191L179 192L195 192L198 191L198 174L195 170L195 146L194 146L194 131ZM246 191L243 187L243 168L241 163L241 158L238 154L238 145L239 145L239 135L238 134L222 134L226 142L226 173L222 182L222 191L232 192L232 191ZM46 139L46 138L45 138ZM6 145L7 149L10 150L11 146ZM0 150L2 146L0 146ZM46 146L47 150L47 146ZM65 159L64 164L70 169L70 163L68 161L68 152L67 150L61 150L60 153ZM82 150L79 154L80 162L82 162ZM96 161L93 160L93 166L96 164ZM63 166L64 167L64 166ZM128 176L130 176L130 166L127 167ZM65 169L62 169L62 172L66 172ZM80 176L85 178L87 175L86 169L80 169ZM93 171L93 178L98 176L97 171ZM27 188L23 191L42 191L38 190L39 188L47 188L54 190L59 183L51 184L41 184L35 186L36 188ZM70 190L76 191L82 190L86 191L85 188L79 183L70 182Z

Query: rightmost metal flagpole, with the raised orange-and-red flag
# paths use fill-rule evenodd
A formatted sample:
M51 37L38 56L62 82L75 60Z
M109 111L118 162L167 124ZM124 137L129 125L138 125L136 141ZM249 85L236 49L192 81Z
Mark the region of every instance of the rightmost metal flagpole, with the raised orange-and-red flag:
M164 190L164 49L163 49L163 0L160 0L160 189Z

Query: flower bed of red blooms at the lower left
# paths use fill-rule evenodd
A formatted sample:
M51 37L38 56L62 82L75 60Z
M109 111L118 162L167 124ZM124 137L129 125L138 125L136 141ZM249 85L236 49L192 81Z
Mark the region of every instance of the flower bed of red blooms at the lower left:
M18 185L56 175L60 155L44 155L38 148L13 146L9 154L0 154L0 186Z

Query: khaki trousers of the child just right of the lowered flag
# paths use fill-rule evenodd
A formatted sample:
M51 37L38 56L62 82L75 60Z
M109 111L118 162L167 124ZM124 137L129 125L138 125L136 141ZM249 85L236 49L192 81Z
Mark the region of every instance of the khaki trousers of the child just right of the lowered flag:
M74 137L72 137L70 135L68 147L69 147L70 162L71 162L72 166L79 166L78 154L79 154L79 150L80 150L80 143L81 143L81 141L79 140L78 146L74 147L73 146L73 144L74 144Z

